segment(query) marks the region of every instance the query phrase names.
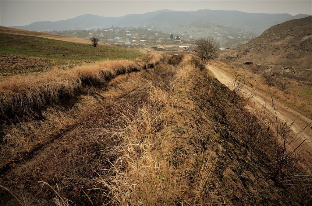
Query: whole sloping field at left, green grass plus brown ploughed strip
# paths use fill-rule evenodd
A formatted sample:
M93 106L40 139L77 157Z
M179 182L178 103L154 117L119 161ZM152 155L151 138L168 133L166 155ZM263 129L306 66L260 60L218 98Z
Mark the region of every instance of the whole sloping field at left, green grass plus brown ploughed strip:
M37 36L0 33L0 75L41 72L54 66L79 65L99 60L144 58L137 49L72 43Z

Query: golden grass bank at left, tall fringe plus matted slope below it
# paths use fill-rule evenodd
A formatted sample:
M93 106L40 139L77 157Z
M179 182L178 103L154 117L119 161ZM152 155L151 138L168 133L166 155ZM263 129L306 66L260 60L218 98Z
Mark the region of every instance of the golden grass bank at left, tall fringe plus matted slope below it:
M158 54L155 57L156 62L161 59ZM138 82L131 80L127 85L118 84L131 72L145 69L146 64L142 60L103 61L39 75L16 75L0 82L1 165L23 157L57 136L60 129L76 124L77 117L98 104L99 99L138 87ZM98 86L114 87L102 96ZM88 92L91 94L85 94Z

